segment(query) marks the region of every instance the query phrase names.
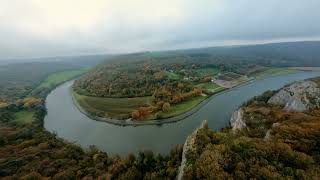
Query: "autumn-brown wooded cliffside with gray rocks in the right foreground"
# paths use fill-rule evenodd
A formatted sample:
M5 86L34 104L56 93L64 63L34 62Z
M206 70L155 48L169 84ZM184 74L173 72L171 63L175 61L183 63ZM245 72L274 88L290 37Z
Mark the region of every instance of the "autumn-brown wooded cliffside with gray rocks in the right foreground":
M320 84L319 78L306 82L253 98L221 132L207 124L197 130L187 141L183 177L319 179ZM291 96L293 92L298 95ZM288 108L301 99L307 109Z

